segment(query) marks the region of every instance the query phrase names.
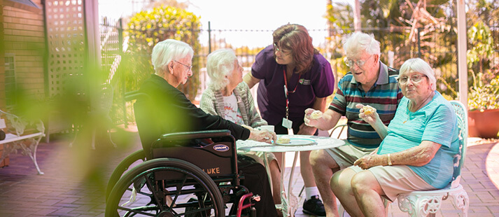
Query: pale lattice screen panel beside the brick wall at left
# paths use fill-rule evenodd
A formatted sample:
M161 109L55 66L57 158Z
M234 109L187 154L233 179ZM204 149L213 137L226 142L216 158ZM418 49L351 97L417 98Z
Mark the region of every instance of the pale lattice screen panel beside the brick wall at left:
M85 22L83 0L45 1L48 36L48 93L66 90L68 79L84 80ZM74 87L74 86L73 86ZM85 93L85 85L76 92Z

